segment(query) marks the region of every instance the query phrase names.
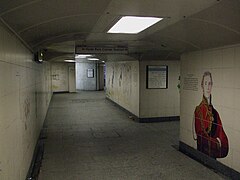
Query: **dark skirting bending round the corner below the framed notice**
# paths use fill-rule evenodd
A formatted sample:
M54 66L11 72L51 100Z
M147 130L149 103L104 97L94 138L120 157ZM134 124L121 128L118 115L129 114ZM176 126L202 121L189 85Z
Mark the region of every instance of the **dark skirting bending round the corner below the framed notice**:
M111 99L109 99L108 97L106 97L107 100L109 100L110 102L112 102L115 106L119 107L120 109L122 109L123 111L127 112L130 116L131 119L133 119L134 121L140 122L140 123L152 123L152 122L165 122L165 121L179 121L180 117L179 116L169 116L169 117L154 117L154 118L139 118L138 116L136 116L135 114L131 113L130 111L128 111L127 109L125 109L124 107L120 106L119 104L117 104L116 102L112 101Z

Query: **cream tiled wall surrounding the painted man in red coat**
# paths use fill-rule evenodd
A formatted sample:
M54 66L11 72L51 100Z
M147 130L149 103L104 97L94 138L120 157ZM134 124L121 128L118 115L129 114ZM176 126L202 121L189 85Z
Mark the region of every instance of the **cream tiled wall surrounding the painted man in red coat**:
M194 110L202 100L200 86L205 71L212 73L212 104L218 111L229 141L229 153L218 161L240 172L240 45L184 54L181 57L180 141L196 148ZM197 88L186 78L197 79ZM185 82L184 82L185 81Z

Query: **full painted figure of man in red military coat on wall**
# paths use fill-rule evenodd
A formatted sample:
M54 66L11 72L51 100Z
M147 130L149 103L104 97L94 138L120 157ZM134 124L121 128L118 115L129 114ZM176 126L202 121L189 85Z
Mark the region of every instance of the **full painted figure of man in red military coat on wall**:
M219 113L212 105L212 74L204 72L201 81L202 101L195 108L193 132L197 150L216 159L228 154L228 138Z

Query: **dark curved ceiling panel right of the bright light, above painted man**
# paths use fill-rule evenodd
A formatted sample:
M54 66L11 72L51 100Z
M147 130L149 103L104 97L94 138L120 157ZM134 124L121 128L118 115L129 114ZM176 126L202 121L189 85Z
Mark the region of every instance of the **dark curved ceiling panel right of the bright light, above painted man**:
M238 33L219 28L203 21L185 20L149 37L152 41L162 42L176 51L201 50L240 42ZM183 51L183 52L184 52Z

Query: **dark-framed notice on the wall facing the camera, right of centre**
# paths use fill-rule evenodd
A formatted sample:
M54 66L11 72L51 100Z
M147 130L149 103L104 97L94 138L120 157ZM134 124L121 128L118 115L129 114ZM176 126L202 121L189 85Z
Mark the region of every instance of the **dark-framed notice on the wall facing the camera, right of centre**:
M168 88L168 66L147 66L147 89Z

